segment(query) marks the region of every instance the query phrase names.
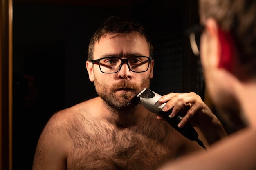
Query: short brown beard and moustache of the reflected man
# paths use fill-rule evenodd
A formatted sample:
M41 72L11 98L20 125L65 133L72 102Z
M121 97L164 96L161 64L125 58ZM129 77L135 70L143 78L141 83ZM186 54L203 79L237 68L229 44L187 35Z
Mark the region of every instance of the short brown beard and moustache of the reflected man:
M114 110L132 111L136 109L136 106L140 106L137 94L139 94L144 88L149 88L150 75L144 77L141 85L130 82L129 80L122 79L118 83L109 85L105 82L100 82L94 77L94 86L97 94L109 108ZM126 90L125 93L119 90Z

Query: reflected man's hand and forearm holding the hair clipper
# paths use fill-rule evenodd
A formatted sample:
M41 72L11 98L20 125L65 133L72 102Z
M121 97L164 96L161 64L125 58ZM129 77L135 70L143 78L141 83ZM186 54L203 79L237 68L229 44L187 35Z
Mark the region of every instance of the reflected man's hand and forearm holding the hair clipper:
M169 93L162 96L159 102L167 102L163 111L167 112L173 108L172 117L175 117L178 112L184 115L179 127L182 128L190 122L193 127L197 127L202 132L208 144L227 137L220 121L196 93ZM157 115L157 119L162 117Z

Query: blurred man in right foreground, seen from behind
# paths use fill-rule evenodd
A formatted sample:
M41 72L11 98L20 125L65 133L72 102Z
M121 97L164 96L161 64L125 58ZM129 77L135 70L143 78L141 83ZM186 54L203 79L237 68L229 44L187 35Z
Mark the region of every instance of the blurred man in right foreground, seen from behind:
M199 9L207 91L240 129L159 170L256 170L256 0L199 0Z

